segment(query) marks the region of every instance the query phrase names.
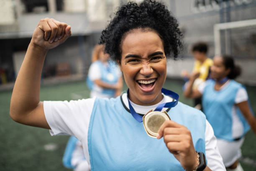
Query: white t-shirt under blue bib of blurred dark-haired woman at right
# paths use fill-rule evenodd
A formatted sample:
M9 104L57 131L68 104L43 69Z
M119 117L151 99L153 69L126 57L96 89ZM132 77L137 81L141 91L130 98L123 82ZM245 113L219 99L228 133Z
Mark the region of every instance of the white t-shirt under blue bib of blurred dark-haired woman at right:
M224 89L226 86L228 86L229 82L230 82L230 80L225 82L225 84L223 84L223 86L220 87L220 90ZM198 86L197 89L201 94L204 93L205 86L206 86L206 82L203 82ZM246 89L244 89L243 87L239 88L236 93L235 104L233 105L232 111L231 111L232 112L232 137L233 138L240 138L243 135L243 123L241 122L238 114L236 113L236 104L245 102L247 100L248 100L248 94L246 92Z

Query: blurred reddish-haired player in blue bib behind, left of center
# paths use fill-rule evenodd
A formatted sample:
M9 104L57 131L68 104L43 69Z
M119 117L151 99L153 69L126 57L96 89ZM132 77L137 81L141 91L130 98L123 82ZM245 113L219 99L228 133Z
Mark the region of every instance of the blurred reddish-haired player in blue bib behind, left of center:
M96 45L92 53L87 86L91 89L90 97L118 97L123 87L120 69L104 53L103 45Z

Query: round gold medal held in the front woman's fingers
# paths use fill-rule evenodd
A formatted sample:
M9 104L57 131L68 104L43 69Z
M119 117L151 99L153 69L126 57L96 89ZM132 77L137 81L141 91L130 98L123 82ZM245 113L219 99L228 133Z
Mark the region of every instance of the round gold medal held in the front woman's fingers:
M146 133L149 136L156 138L157 132L164 121L171 119L165 111L160 112L150 110L146 115L143 116L142 120Z

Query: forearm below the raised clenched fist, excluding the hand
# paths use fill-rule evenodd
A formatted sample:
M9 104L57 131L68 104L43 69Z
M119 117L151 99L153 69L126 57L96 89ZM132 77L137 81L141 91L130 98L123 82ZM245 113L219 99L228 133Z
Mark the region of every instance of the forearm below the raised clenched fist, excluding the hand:
M47 50L30 43L20 67L10 102L10 115L20 115L35 109L39 103L40 79Z

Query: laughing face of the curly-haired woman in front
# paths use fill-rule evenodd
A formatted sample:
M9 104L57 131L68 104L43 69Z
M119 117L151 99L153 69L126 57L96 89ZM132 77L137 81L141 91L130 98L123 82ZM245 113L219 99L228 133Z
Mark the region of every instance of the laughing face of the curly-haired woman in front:
M154 105L163 98L166 79L166 56L161 38L154 31L135 29L121 44L120 70L129 99L138 105Z

